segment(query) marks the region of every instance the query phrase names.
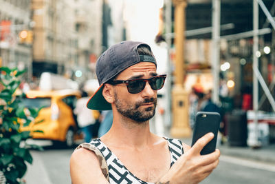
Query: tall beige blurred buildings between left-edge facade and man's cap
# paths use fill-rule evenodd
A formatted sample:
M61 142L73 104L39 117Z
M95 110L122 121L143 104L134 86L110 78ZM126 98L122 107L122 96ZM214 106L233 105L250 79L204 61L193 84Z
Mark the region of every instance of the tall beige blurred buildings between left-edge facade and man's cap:
M101 52L100 7L101 1L32 1L34 76L41 68L70 78L76 70L92 75L87 66Z

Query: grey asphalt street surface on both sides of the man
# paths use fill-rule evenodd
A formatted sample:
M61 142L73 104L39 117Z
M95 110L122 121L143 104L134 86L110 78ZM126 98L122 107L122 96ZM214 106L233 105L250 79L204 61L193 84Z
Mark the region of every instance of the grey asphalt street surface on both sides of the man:
M43 152L32 151L33 165L28 167L25 179L28 184L71 183L69 158L72 149L46 148ZM239 159L222 155L219 166L205 181L206 183L266 183L274 184L275 164Z

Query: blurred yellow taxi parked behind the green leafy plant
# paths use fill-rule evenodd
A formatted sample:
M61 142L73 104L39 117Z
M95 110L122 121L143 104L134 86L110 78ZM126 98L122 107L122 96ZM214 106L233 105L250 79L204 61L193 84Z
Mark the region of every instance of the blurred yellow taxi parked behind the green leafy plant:
M78 130L73 110L79 98L78 90L28 91L26 97L21 99L21 105L41 110L30 125L21 126L21 131L31 131L32 139L52 140L71 147ZM33 132L34 130L43 132Z

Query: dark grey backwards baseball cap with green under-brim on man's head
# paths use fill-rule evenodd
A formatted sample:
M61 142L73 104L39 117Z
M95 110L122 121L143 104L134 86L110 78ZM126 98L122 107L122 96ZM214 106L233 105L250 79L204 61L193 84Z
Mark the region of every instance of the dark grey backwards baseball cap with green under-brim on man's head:
M100 87L91 96L87 103L87 108L91 110L111 110L111 104L108 103L102 95L104 83L107 83L114 76L140 62L152 62L157 65L155 57L149 55L140 55L137 48L140 45L146 45L150 50L150 46L146 43L137 41L122 41L121 43L111 46L103 52L98 61L96 61L96 76Z

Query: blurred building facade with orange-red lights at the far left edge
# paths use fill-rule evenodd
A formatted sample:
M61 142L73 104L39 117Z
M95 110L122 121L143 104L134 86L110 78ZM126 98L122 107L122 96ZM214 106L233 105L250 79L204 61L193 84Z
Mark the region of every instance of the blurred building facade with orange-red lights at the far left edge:
M19 34L22 30L32 28L30 3L31 0L0 1L0 65L26 69L29 74L32 71L32 38L29 35L28 41L23 42ZM26 33L31 34L23 32Z

